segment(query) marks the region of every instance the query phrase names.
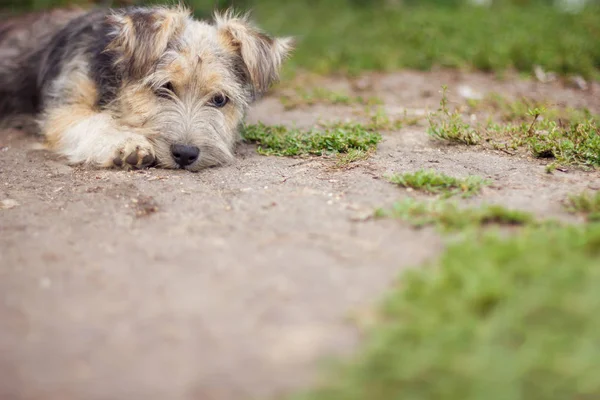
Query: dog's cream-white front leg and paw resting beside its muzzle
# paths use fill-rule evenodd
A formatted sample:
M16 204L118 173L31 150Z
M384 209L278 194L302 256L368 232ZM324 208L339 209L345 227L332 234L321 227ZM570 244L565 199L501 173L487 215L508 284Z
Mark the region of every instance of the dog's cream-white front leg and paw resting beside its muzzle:
M155 160L147 136L119 126L108 112L82 105L48 110L42 132L50 147L72 164L145 168Z

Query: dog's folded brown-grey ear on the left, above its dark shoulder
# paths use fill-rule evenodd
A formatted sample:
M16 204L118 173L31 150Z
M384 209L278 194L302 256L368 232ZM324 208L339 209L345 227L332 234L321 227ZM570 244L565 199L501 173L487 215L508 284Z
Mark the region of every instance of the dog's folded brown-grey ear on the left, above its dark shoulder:
M132 9L108 17L115 64L130 78L147 74L185 27L189 11L182 8Z

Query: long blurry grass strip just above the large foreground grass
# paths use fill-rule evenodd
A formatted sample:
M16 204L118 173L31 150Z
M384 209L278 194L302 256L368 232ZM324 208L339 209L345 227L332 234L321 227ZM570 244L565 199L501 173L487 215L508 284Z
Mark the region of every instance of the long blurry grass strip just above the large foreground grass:
M391 209L378 209L377 218L398 218L414 227L434 225L443 231L458 231L489 225L519 226L534 224L530 213L498 205L460 208L447 201L422 202L411 198L396 202Z

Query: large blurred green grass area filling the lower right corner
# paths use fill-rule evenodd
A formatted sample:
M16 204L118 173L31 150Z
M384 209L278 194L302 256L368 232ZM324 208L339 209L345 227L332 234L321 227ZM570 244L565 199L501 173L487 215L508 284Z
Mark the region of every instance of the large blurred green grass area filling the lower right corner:
M295 400L600 398L600 225L467 236L399 279Z

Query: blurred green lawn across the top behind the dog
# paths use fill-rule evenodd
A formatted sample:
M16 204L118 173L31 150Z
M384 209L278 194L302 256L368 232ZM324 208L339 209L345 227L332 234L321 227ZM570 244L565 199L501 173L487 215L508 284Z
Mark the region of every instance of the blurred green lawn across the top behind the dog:
M0 0L3 13L140 0ZM173 3L162 2L162 3ZM356 74L435 67L597 78L598 0L188 0L199 17L234 6L269 32L294 35L286 73Z

